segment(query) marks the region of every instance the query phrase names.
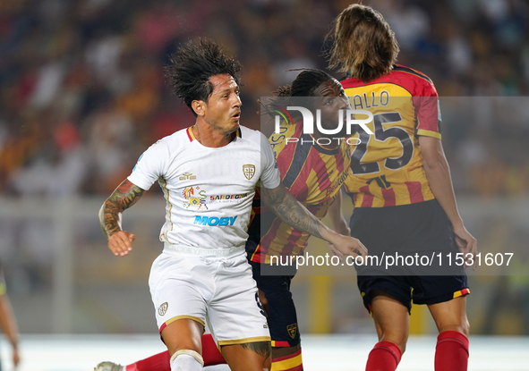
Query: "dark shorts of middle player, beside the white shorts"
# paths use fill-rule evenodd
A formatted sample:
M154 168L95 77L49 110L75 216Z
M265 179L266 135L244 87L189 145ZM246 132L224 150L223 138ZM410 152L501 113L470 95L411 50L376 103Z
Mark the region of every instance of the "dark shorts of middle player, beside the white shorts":
M260 263L250 261L253 279L268 300L267 320L272 347L294 347L300 343L290 282L294 275L260 274Z

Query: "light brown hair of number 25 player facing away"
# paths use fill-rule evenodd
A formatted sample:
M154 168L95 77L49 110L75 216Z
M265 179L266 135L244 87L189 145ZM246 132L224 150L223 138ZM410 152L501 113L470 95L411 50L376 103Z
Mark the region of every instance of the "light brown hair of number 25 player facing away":
M382 14L370 6L349 5L335 20L329 67L368 82L391 71L397 60L395 33Z

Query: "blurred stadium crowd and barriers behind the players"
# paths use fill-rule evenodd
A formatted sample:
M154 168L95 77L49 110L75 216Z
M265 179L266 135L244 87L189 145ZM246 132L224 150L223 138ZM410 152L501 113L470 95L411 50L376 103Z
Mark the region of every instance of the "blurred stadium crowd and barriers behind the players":
M286 69L326 67L328 25L350 3L0 4L0 261L22 334L156 332L147 277L161 249L162 194L153 187L125 214L137 235L130 257L107 251L97 212L145 148L192 123L163 79L167 55L198 36L223 44L243 63L242 123L258 129L257 99L292 80ZM461 105L444 116L443 144L480 248L520 252L520 275L471 277L471 331L529 334L529 5L364 4L395 30L398 63ZM496 97L517 114L483 111ZM303 333L373 333L354 277L300 274L293 284ZM413 333L434 332L414 308Z

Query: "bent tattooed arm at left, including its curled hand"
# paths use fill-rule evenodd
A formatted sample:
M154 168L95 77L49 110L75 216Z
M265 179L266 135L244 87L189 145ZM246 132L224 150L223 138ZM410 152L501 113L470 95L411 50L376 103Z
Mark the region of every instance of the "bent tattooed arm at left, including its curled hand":
M105 201L99 209L99 223L108 239L108 249L117 256L125 256L132 250L132 241L136 238L132 233L122 231L121 215L132 207L145 193L140 187L125 180Z

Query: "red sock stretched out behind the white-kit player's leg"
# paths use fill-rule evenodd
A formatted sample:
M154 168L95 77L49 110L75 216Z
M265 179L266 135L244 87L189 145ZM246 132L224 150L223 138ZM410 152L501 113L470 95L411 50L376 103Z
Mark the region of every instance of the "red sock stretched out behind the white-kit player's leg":
M220 354L217 344L210 333L202 335L202 358L204 358L204 366L215 366L226 363L226 359ZM125 371L171 371L169 359L169 351L166 350L149 358L141 359L131 365L127 365Z

